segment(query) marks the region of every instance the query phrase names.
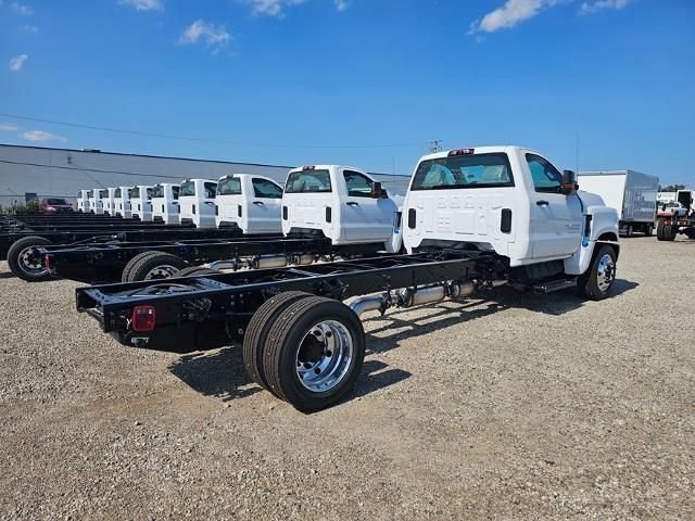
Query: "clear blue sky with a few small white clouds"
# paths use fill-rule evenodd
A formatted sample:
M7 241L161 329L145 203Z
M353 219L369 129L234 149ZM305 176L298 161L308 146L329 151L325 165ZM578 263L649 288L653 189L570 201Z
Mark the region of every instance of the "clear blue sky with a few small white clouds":
M1 0L0 142L409 174L428 141L695 185L691 0Z

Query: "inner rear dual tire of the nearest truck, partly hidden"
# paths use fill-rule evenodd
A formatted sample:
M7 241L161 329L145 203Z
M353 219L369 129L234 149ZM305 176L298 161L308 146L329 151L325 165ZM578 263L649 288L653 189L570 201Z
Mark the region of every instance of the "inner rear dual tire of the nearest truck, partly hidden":
M303 291L286 291L271 296L253 314L243 336L243 364L251 379L266 391L274 391L268 385L263 369L264 354L268 333L277 317L292 303L314 296Z

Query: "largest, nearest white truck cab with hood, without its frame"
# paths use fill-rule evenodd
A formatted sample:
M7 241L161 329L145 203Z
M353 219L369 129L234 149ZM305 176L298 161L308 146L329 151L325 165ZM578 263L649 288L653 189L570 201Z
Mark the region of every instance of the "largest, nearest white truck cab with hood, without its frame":
M578 192L576 179L520 147L426 155L404 204L404 245L494 251L513 268L584 274L598 242L611 244L617 258L618 214L598 195Z

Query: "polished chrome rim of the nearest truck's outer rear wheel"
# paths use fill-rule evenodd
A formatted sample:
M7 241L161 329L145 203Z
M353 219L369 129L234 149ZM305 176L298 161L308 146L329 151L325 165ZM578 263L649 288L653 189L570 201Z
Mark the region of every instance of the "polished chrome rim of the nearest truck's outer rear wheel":
M336 387L349 372L354 344L349 329L324 320L309 329L296 348L296 377L313 393Z

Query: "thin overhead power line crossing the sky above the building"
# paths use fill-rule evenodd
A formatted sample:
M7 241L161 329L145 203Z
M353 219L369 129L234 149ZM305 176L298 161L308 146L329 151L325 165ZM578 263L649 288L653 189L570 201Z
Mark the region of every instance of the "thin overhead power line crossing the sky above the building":
M86 125L81 123L67 123L59 122L56 119L46 119L40 117L21 116L17 114L10 114L7 112L0 112L0 116L10 117L13 119L22 119L26 122L47 123L49 125L62 125L64 127L85 128L88 130L100 130L104 132L113 134L127 134L130 136L143 136L149 138L160 139L177 139L181 141L194 141L200 143L215 143L215 144L233 144L238 147L260 147L260 148L280 148L280 149L382 149L382 148L401 148L401 147L420 147L427 144L425 142L410 142L410 143L388 143L388 144L278 144L278 143L253 143L245 141L229 141L224 139L205 139L205 138L192 138L188 136L176 136L170 134L154 134L154 132L141 132L138 130L126 130L113 127L102 127L98 125Z

